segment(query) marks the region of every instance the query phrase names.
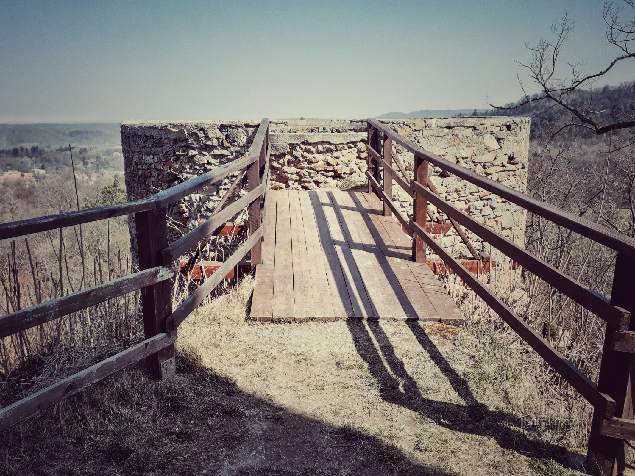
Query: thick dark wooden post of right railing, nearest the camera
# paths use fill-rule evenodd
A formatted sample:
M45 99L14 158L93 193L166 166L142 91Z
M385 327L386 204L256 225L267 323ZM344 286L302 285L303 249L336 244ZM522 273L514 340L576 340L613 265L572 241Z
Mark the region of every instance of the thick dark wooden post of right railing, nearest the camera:
M631 315L635 313L635 260L622 253L619 253L615 260L611 304L625 308L631 312ZM629 330L635 331L633 319L629 324ZM632 420L630 376L631 372L635 370L632 367L633 354L613 350L614 334L615 329L607 324L598 376L598 390L615 400L615 416L617 418ZM622 439L601 435L604 417L601 409L594 410L589 435L587 464L589 469L598 474L618 475L624 471L624 460L628 446Z

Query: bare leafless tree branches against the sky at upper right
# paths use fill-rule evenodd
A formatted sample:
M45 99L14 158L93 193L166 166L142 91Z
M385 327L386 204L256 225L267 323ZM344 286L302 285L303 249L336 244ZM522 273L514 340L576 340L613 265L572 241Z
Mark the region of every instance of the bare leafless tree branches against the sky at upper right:
M631 8L635 10L635 0L624 0L630 7L627 13L631 13ZM579 126L591 129L598 135L606 134L617 129L635 128L635 117L613 106L612 114L605 114L605 119L601 119L601 114L606 110L596 110L596 103L592 94L584 101L576 100L575 91L578 89L593 86L599 78L604 76L613 67L628 58L635 58L635 52L631 52L632 41L635 41L635 11L632 20L623 20L624 7L615 7L613 2L604 4L603 18L606 23L606 39L620 50L620 54L609 63L609 65L595 73L585 74L585 63L568 63L570 73L565 77L556 75L556 67L559 65L559 56L562 52L563 44L571 37L573 32L573 20L565 13L561 22L556 22L551 26L554 40L540 39L536 46L527 46L531 51L531 61L529 64L517 62L521 67L529 70L528 76L537 83L542 91L537 95L529 96L525 89L523 80L518 77L518 81L523 88L525 98L521 102L512 106L502 107L491 105L497 109L511 110L517 109L531 102L543 101L551 102L552 106L560 105L570 114L570 121L563 126ZM629 17L630 18L630 17ZM610 124L606 122L611 121Z

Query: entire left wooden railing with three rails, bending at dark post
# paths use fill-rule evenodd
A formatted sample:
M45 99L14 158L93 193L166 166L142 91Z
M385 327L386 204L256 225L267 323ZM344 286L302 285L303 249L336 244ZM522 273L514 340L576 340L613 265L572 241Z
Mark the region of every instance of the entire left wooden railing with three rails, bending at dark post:
M225 204L225 208L217 211L209 220L182 238L168 244L166 206L241 170L243 173L221 199L220 203ZM232 192L238 180L244 176L245 170L248 193L232 202L237 196ZM203 302L249 251L251 267L262 261L260 242L265 230L261 223L262 214L266 209L264 204L267 200L268 185L269 120L262 119L253 143L244 157L149 198L0 225L0 239L9 239L134 214L140 269L139 272L114 281L3 315L0 317L0 338L137 289L141 289L145 334L145 340L137 345L1 409L0 431L143 359L147 359L149 371L154 378L163 380L173 375L174 344L177 341L178 325ZM215 234L215 230L223 228L228 218L244 208L248 208L248 239L210 278L190 294L184 303L172 310L170 280L175 275L172 268L174 262L185 252L196 248L199 242L209 235Z

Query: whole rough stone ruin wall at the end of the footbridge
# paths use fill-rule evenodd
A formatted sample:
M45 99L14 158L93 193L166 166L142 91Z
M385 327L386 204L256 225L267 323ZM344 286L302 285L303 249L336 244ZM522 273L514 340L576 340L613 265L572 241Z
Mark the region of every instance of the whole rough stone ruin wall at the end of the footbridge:
M529 118L455 117L382 122L448 161L521 192L526 190ZM147 197L238 159L249 149L258 124L259 121L122 123L128 200ZM272 189L337 189L367 183L365 120L272 121L270 141ZM399 145L393 147L411 174L413 155ZM465 180L445 176L439 168L430 168L429 173L445 199L523 244L526 217L523 209ZM231 180L229 177L205 187L168 209L171 241L211 215ZM394 200L410 215L411 198L396 183L392 190ZM429 206L438 215L434 206ZM130 226L134 232L133 220ZM452 228L438 239L443 246L453 248L455 256L471 256ZM478 237L470 234L469 239L479 249ZM492 258L500 261L502 255L493 253Z

